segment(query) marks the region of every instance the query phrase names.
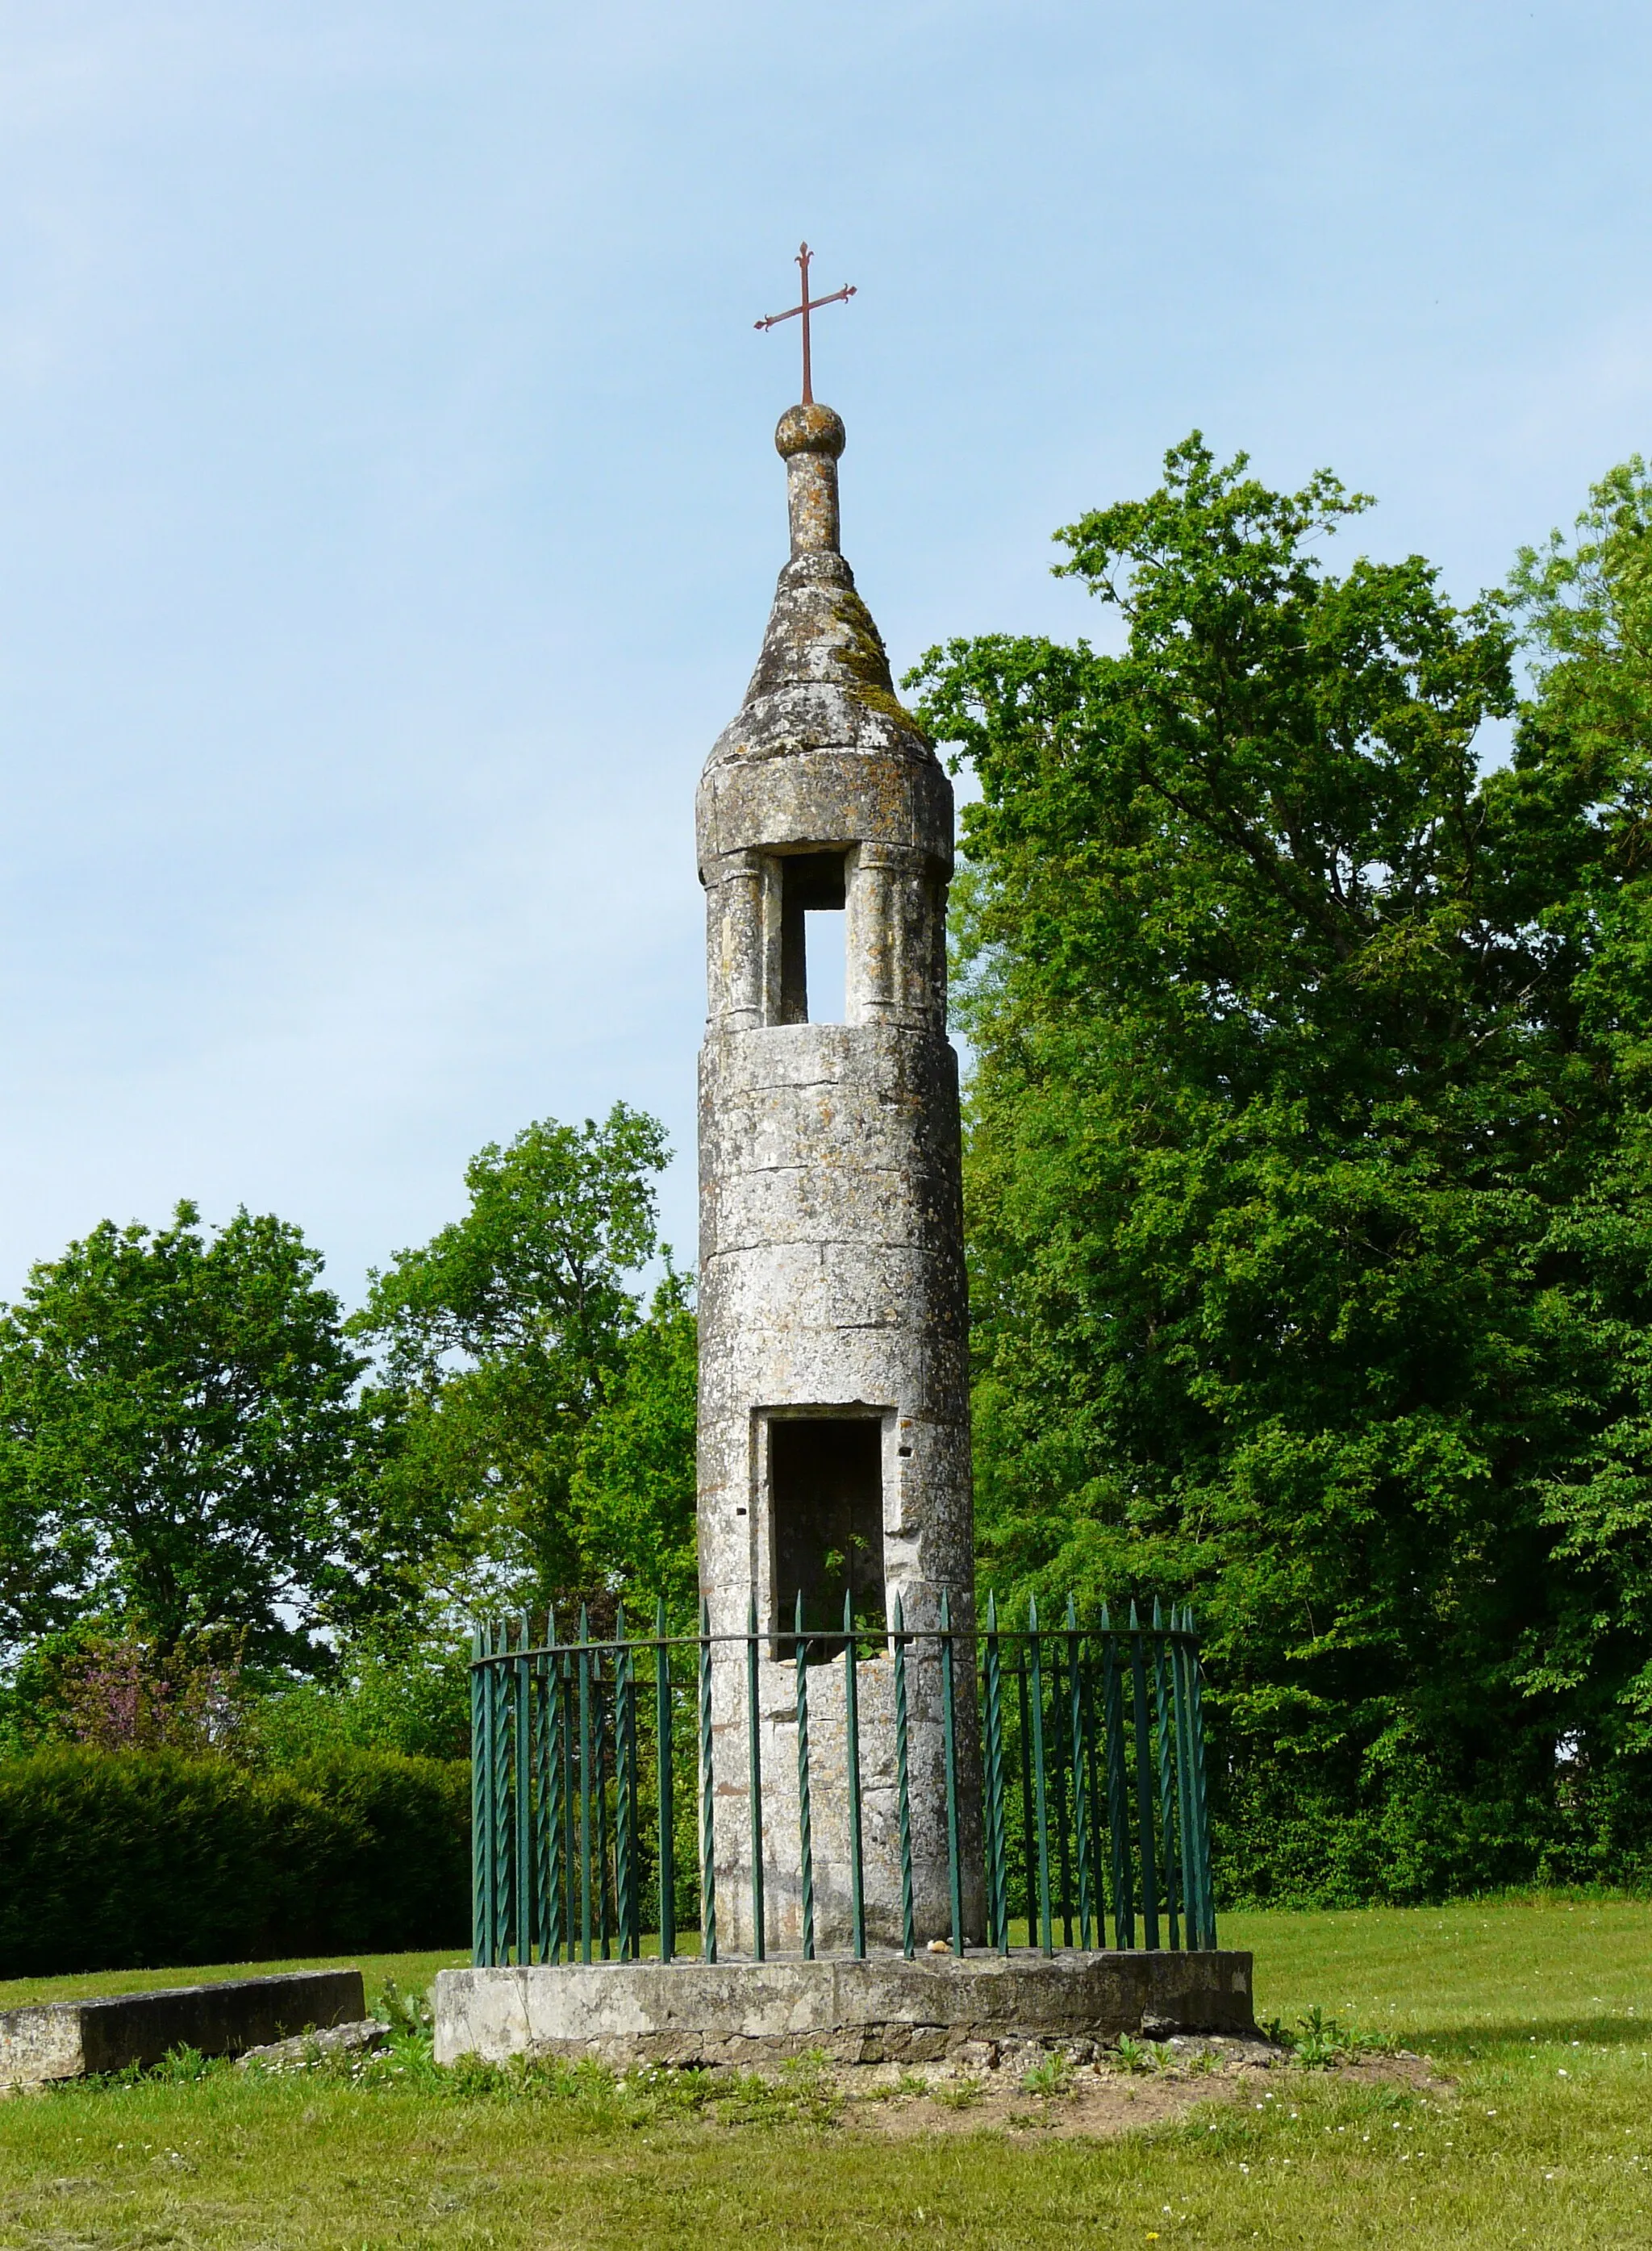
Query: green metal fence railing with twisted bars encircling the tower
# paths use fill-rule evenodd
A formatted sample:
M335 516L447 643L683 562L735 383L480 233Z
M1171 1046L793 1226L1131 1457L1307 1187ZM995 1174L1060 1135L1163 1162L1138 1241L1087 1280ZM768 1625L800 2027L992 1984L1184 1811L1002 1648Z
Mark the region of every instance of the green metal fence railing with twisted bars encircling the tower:
M912 1783L907 1677L939 1679L945 1767L945 1875L950 1947L966 1952L966 1900L984 1902L986 1945L1215 1947L1200 1648L1193 1616L1159 1605L1141 1623L1107 1612L1080 1625L1074 1605L1058 1627L1029 1605L1024 1627L1002 1627L988 1600L979 1627L941 1623L671 1634L664 1605L653 1634L556 1639L554 1616L536 1639L522 1614L473 1634L473 1956L479 1965L637 1961L644 1934L662 1961L718 1958L720 1884L727 1895L727 1828L716 1799L729 1783L749 1803L743 1844L743 1952L765 1954L765 1859L776 1837L758 1772L758 1679L781 1659L794 1668L788 1711L794 1778L785 1774L785 1857L799 1880L799 1940L815 1956L815 1803L844 1799L851 1918L842 1952L867 1954L864 1781L860 1702L885 1668L894 1706L894 1785L900 1866L900 1952L912 1956ZM810 1691L821 1663L837 1688L842 1760L831 1772L810 1747ZM743 1675L749 1724L713 1727L729 1668ZM713 1695L720 1679L720 1697ZM788 1688L790 1693L790 1688ZM966 1702L968 1700L968 1702ZM772 1720L772 1713L770 1713ZM738 1740L743 1774L718 1767L718 1736ZM772 1736L770 1736L772 1742ZM961 1772L963 1760L979 1769ZM790 1767L790 1763L788 1763ZM975 1794L979 1785L979 1796ZM972 1810L979 1808L979 1817ZM767 1828L765 1828L767 1823ZM979 1862L975 1855L979 1850ZM725 1868L720 1873L718 1859ZM972 1864L975 1862L975 1864ZM749 1913L747 1913L749 1909ZM727 1904L725 1904L727 1916ZM684 1940L698 1931L698 1945ZM650 1949L653 1952L653 1945ZM824 1949L826 1952L826 1949Z

